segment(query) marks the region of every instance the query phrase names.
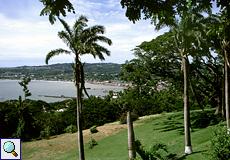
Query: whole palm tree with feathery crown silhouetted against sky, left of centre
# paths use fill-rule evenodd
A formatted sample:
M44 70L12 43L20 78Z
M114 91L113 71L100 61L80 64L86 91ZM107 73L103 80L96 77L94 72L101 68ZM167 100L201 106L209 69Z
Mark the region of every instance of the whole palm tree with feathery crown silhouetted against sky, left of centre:
M92 54L94 58L97 56L100 60L104 60L103 53L110 55L108 51L103 46L97 44L98 41L105 42L108 45L112 44L112 41L109 38L100 36L98 34L104 34L105 28L100 25L95 25L93 27L87 27L86 22L88 19L85 16L80 16L74 23L73 28L70 29L69 25L62 19L60 22L63 24L65 31L58 32L58 36L63 40L64 43L69 47L69 50L65 49L56 49L50 51L46 55L46 64L50 58L60 53L75 55L75 61L72 65L74 70L74 83L77 89L77 127L78 127L78 147L79 147L79 159L84 160L84 146L83 146L83 135L82 135L82 91L85 90L84 82L84 70L82 62L80 61L80 56L85 54Z

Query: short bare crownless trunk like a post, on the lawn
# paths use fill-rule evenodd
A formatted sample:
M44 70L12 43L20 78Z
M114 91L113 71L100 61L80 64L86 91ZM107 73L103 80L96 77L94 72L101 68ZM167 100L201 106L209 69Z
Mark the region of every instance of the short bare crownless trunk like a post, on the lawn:
M127 130L128 130L129 159L134 159L136 158L136 152L135 152L135 138L134 138L133 120L131 116L131 111L127 112Z

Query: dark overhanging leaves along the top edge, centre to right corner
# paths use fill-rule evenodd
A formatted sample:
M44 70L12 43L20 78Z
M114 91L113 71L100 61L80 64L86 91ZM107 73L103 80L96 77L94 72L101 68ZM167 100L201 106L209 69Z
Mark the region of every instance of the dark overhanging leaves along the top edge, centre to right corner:
M143 16L144 19L151 19L156 26L165 24L170 26L174 23L177 16L181 17L182 13L187 10L187 5L194 6L196 10L206 10L211 12L212 3L216 7L227 11L229 17L229 1L226 0L121 0L122 8L126 9L126 17L136 22Z

